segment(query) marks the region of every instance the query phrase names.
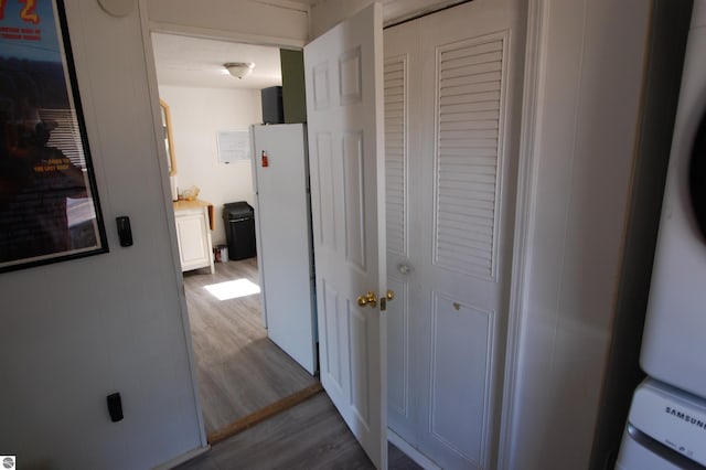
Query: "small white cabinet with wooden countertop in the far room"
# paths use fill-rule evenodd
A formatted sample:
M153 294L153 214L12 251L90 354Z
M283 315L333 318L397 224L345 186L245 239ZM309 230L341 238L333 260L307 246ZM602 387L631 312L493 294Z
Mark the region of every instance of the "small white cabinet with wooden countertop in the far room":
M178 201L174 203L174 220L181 270L210 267L213 274L213 205L204 201Z

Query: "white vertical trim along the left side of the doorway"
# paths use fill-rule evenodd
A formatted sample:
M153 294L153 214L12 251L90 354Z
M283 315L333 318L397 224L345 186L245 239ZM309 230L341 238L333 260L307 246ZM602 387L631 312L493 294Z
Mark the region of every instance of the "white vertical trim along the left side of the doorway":
M152 39L150 24L148 19L147 0L139 0L139 14L140 14L140 29L142 33L142 45L145 49L145 68L147 71L147 86L150 95L151 108L152 108L152 124L154 126L154 140L156 147L159 149L160 160L160 175L163 193L164 204L164 217L165 224L169 227L169 243L172 252L172 270L174 274L174 282L178 286L179 291L179 316L181 317L182 332L184 335L184 342L186 343L186 351L189 357L189 372L191 375L191 383L193 389L193 396L195 402L196 420L199 423L199 439L201 441L202 449L208 449L208 441L206 439L206 428L203 419L203 410L201 407L201 391L199 389L199 377L196 373L196 360L194 356L193 344L191 339L191 325L189 323L189 310L186 308L186 296L184 292L184 279L181 273L181 261L179 258L179 241L176 238L176 223L174 221L174 209L172 204L172 190L169 177L169 169L167 168L167 149L163 142L158 141L158 136L162 132L162 115L159 104L159 88L157 85L157 70L154 67L154 51L152 50ZM205 451L204 450L204 451ZM195 457L191 456L189 458ZM180 462L175 462L176 466Z

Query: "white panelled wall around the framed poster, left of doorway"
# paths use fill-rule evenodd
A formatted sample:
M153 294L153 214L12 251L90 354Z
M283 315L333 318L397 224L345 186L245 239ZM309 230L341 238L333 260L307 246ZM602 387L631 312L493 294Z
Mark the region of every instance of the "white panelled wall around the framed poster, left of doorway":
M205 444L158 98L138 9L114 18L96 1L65 3L110 253L0 275L0 446L20 468L146 469ZM119 215L131 247L119 246Z

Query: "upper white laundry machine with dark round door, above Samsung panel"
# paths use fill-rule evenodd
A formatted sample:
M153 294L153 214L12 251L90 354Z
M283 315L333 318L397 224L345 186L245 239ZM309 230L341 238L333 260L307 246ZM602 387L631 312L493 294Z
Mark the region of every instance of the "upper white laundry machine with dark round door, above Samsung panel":
M706 397L706 0L695 0L640 363Z

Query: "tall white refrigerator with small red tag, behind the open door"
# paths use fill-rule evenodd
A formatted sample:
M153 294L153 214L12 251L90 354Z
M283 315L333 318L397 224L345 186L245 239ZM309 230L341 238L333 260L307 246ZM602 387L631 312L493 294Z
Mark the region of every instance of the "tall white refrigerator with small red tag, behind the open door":
M318 371L307 128L252 126L255 229L269 339Z

